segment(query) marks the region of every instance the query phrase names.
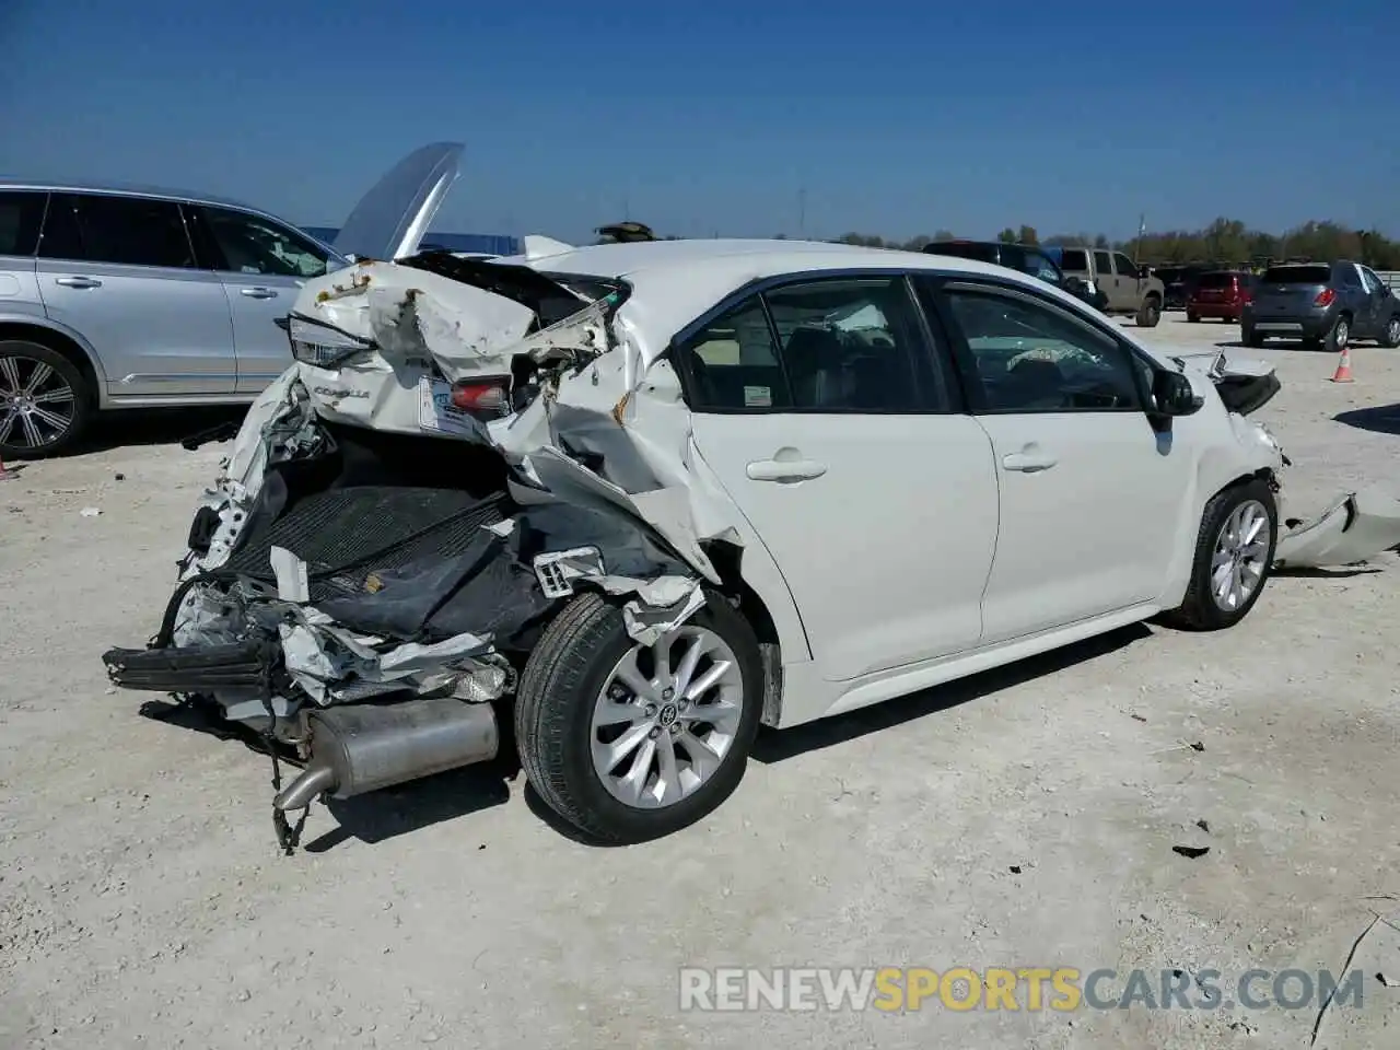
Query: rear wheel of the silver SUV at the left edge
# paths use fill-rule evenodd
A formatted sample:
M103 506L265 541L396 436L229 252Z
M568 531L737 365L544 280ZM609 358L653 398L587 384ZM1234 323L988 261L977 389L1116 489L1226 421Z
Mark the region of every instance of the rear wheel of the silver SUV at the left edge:
M67 391L70 399L41 402L34 407L46 416L62 417L64 427L46 417L35 419L13 407L14 398L25 393L25 386L36 371L48 368L48 378L31 392L50 399ZM10 389L18 382L20 389ZM87 431L92 416L94 391L83 372L67 357L42 343L28 339L0 339L0 459L43 459L62 455L73 448ZM28 416L28 427L25 426ZM41 441L35 441L38 434Z

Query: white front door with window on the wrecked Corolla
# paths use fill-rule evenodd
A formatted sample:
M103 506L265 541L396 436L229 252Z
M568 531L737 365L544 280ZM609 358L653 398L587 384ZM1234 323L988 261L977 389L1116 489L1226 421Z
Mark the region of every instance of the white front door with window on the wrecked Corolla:
M994 644L1155 601L1190 490L1190 449L1152 430L1149 363L1030 290L930 287L1001 484L983 599Z

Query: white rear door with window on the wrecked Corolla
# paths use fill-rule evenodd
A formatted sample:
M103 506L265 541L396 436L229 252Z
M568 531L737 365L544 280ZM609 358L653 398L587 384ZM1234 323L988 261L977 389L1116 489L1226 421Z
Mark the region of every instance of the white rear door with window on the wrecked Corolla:
M820 673L847 682L981 637L997 536L987 434L903 274L805 276L673 342L697 454L783 573Z

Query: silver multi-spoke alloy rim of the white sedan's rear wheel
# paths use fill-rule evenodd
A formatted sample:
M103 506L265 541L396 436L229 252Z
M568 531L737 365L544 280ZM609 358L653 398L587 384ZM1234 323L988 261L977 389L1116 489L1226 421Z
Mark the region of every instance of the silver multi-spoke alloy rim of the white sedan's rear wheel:
M718 634L686 624L633 645L594 703L594 773L633 809L662 809L720 770L743 720L743 671Z

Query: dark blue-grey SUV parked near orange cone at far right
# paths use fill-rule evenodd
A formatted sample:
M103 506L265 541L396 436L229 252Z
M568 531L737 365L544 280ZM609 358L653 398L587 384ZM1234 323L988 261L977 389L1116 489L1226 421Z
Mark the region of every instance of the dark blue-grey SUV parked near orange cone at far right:
M1301 339L1333 353L1352 339L1400 346L1400 298L1369 266L1354 262L1270 266L1240 314L1246 346Z

